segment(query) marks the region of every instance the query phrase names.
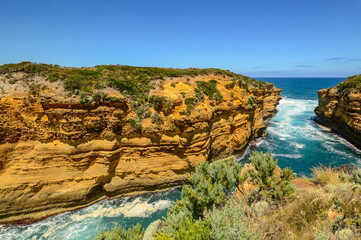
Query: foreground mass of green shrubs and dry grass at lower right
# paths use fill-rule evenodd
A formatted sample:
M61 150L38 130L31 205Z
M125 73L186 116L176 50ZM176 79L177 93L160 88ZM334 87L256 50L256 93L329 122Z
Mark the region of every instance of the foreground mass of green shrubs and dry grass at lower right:
M256 152L250 162L198 165L181 200L152 226L154 238L360 239L361 169L320 166L311 178L294 179L270 153ZM139 229L132 229L136 236ZM101 232L96 239L117 239L106 238L114 233Z

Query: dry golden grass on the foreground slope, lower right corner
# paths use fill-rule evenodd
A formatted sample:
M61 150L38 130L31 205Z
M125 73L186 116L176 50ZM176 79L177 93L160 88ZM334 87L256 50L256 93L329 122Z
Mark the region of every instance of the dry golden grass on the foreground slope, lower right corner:
M302 191L294 200L258 219L250 216L263 239L341 239L346 230L348 239L361 239L361 186L349 174L320 166L313 168L312 178L298 182Z

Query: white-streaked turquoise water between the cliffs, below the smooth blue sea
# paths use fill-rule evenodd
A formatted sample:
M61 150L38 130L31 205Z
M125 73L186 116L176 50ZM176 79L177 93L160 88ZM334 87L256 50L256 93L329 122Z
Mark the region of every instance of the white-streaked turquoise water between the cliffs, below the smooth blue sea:
M253 151L270 151L281 167L289 166L299 175L309 175L319 164L361 166L359 149L313 121L316 106L316 100L283 98L269 121L267 138L256 149L250 148L242 160Z

